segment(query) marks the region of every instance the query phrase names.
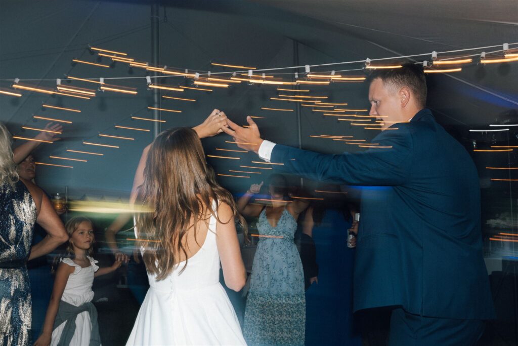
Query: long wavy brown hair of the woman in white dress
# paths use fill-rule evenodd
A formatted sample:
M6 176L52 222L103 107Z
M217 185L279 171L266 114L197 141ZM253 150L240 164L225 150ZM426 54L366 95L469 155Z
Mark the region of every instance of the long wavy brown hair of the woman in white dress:
M171 273L180 252L187 258L182 240L187 232L195 232L196 240L200 221L208 223L215 215L213 200L231 207L246 237L246 223L234 198L210 176L196 132L174 128L159 134L149 149L144 182L137 195L138 203L151 211L136 216L137 236L144 248L142 258L157 280Z

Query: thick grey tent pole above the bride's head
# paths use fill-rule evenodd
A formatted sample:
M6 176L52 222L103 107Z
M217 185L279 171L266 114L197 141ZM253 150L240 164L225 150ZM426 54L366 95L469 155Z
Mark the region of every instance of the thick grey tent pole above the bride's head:
M159 31L159 9L160 1L154 0L151 3L151 61L153 66L160 65L160 31ZM153 72L156 77L159 73ZM153 78L153 83L160 85L160 78ZM160 108L160 89L153 89L153 107ZM160 110L153 109L153 119L160 120ZM160 122L153 121L153 136L156 137L161 131Z

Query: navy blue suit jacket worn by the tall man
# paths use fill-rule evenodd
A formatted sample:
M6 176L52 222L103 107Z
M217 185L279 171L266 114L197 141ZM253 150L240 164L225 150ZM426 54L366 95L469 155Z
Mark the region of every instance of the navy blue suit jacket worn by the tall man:
M402 306L451 319L493 319L482 257L480 186L465 148L423 109L361 153L276 145L271 162L310 179L363 185L354 310Z

